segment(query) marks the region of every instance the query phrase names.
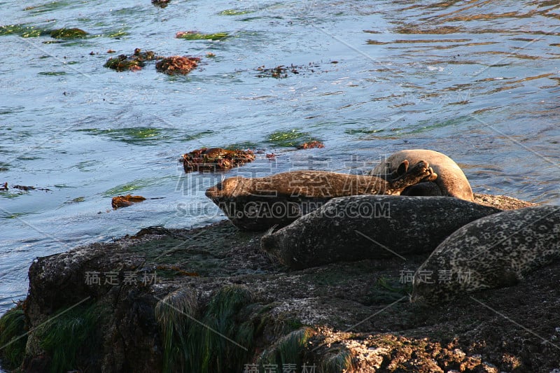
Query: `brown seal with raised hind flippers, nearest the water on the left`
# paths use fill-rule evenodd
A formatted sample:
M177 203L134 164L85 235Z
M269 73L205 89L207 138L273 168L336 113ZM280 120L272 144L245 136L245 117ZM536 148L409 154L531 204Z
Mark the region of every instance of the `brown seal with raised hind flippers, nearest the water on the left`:
M232 223L243 230L283 227L334 197L399 195L410 185L437 174L428 162L409 168L404 160L384 178L327 171L290 171L262 178L227 178L206 191Z

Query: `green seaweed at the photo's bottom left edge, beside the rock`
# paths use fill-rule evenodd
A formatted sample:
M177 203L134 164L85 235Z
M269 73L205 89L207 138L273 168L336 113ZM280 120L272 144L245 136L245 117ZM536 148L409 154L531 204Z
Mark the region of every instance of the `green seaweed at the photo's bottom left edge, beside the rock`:
M23 303L18 303L0 318L0 357L6 368L23 363L27 344L27 328Z

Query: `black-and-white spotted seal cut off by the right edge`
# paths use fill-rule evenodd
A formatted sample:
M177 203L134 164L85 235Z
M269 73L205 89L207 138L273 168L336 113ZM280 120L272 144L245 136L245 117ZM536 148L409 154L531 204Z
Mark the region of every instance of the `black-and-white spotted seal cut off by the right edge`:
M503 211L451 234L414 274L412 301L512 286L560 259L560 206Z

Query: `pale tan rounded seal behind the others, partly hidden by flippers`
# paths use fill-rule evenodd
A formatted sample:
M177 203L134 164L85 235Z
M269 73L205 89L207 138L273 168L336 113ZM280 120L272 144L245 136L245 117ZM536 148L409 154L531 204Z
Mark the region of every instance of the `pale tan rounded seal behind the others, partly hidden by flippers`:
M390 174L393 170L397 169L403 160L408 160L411 164L419 160L425 160L430 163L437 174L435 181L423 181L416 185L412 185L402 191L401 195L441 195L456 197L472 201L472 189L468 180L460 167L442 153L434 150L425 149L409 149L400 150L397 153L390 155L384 162L377 165L370 175L377 175L383 177L385 174Z

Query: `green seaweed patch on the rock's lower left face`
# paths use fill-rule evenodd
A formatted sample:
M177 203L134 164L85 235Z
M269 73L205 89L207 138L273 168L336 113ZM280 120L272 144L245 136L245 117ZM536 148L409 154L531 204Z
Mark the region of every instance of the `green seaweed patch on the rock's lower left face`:
M39 346L50 356L50 372L77 370L78 356L89 356L99 339L96 326L102 312L97 304L76 307L52 318L34 333Z

